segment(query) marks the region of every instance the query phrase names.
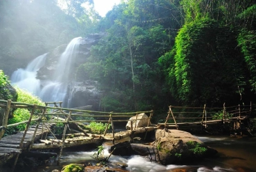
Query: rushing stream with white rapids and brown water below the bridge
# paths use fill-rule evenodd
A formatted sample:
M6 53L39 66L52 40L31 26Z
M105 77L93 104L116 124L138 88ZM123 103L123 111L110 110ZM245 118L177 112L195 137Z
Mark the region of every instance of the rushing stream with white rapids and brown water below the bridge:
M150 162L138 155L130 157L120 157L111 155L110 162L124 162L128 165L127 171L138 172L161 172L161 171L256 171L256 138L248 137L229 137L229 136L196 136L209 147L216 149L219 153L216 158L208 158L200 162L191 164L171 164L163 166L156 162ZM104 143L104 147L109 147L110 143ZM86 149L86 147L77 149L64 149L60 166L56 163L48 166L30 169L28 172L52 171L53 169L62 169L62 166L71 163L95 163L91 156L95 149ZM109 155L105 151L105 156Z

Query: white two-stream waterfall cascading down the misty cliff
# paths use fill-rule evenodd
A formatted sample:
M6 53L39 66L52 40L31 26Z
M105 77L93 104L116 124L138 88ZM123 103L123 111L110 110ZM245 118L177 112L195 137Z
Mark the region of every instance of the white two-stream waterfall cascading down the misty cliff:
M12 85L28 90L39 96L43 101L64 101L68 89L68 77L72 61L75 59L75 52L80 45L81 37L73 39L68 43L66 50L60 56L53 78L38 80L37 71L45 65L46 55L38 56L26 69L17 69L11 77Z

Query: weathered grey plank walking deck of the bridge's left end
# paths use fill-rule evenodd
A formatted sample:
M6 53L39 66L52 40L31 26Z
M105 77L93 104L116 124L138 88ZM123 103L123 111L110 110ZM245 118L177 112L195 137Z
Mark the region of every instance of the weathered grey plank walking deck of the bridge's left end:
M15 157L17 154L21 153L22 150L28 149L29 145L33 140L34 132L35 132L35 126L31 126L26 133L26 136L21 148L19 147L19 145L24 135L24 131L1 138L0 164L3 164L7 160L10 160L11 158ZM42 137L42 134L47 132L48 132L48 129L46 129L46 127L44 127L42 131L42 125L39 125L39 129L37 129L37 133L35 135L35 140L38 140L39 138Z

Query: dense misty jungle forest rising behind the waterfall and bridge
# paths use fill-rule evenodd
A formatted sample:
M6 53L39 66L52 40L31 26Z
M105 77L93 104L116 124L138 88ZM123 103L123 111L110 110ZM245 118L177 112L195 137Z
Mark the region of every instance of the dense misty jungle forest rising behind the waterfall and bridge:
M254 0L129 0L106 17L93 1L66 5L0 1L0 69L10 75L76 36L105 32L74 78L98 80L106 111L255 101Z

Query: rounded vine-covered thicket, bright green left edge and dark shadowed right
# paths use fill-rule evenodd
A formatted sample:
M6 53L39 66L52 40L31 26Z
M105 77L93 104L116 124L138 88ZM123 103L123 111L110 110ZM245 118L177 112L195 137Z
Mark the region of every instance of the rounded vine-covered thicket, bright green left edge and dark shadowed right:
M235 31L212 19L183 25L175 41L175 52L165 54L170 91L181 103L218 105L233 100L239 86L244 90L246 70ZM164 59L165 58L165 59ZM167 69L166 69L167 68Z

